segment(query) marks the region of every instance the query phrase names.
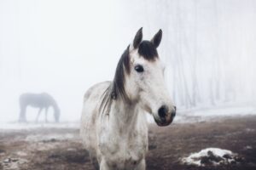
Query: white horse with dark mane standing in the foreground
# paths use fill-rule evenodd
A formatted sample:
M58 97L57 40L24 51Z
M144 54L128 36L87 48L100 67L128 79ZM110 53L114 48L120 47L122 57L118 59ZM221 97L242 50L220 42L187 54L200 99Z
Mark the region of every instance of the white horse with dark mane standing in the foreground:
M96 169L145 169L146 112L159 126L169 125L176 114L156 49L161 37L160 30L151 41L142 41L143 29L137 31L113 82L96 84L84 95L80 135Z

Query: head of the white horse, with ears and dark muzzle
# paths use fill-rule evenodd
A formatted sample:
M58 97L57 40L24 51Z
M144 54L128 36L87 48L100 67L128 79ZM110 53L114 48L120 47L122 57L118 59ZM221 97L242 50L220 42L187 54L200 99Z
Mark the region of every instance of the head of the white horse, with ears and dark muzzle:
M157 52L161 37L160 30L151 41L143 41L143 28L137 31L125 65L128 68L125 71L125 93L128 99L138 102L144 111L152 114L159 126L167 126L176 115L176 107L168 94L164 67Z

